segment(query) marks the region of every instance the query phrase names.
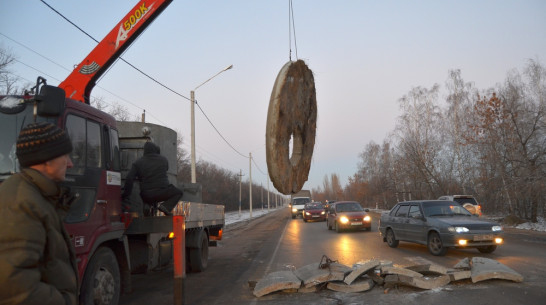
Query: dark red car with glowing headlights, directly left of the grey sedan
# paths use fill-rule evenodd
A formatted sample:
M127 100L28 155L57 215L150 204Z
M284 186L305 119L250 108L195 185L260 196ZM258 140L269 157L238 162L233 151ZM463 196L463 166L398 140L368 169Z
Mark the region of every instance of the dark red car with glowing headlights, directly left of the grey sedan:
M372 229L370 210L363 209L356 201L337 201L328 209L326 226L328 230L368 230Z

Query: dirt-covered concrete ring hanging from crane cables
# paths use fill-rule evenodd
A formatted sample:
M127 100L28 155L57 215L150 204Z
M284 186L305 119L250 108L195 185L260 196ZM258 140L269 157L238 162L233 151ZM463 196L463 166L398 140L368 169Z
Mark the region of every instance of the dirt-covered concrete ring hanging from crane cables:
M267 112L267 168L279 192L295 194L307 181L316 129L317 97L313 72L303 60L290 61L277 75Z

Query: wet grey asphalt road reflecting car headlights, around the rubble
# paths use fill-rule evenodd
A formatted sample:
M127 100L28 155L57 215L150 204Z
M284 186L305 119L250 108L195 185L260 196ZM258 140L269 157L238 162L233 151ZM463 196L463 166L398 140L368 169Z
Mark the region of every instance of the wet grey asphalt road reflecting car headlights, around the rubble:
M375 217L377 219L377 217ZM508 230L505 245L491 254L475 249L450 249L436 257L425 246L401 242L396 249L382 242L377 221L372 231L336 233L325 222L304 223L280 210L251 223L228 227L224 239L209 253L209 267L203 273L187 275L186 304L543 304L546 299L546 234ZM367 259L389 260L408 265L407 257L421 256L445 267L466 257L487 257L524 276L523 283L491 280L473 284L470 280L450 283L441 289L420 290L400 286L388 293L380 286L364 293L348 294L329 290L318 293L273 293L255 298L249 281L280 270L320 262L323 255L351 266ZM172 268L133 276L134 292L121 304L173 304Z

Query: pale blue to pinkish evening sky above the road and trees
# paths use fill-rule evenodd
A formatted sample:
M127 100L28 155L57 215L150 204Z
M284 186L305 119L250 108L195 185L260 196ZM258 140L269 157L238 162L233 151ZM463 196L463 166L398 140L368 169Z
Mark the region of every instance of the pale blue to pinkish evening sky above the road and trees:
M138 2L55 1L49 5L101 40ZM151 2L151 1L150 1ZM271 90L288 62L288 0L173 3L123 58L198 104L234 151L196 110L197 158L267 185L265 123ZM317 137L309 180L322 185L357 171L370 141L382 143L400 115L398 99L413 87L444 86L448 71L487 89L528 59L546 61L546 1L293 0L297 44L292 60L313 71ZM96 43L39 0L0 0L0 45L14 53L12 71L30 83L58 85ZM92 96L181 133L190 151L190 102L118 61ZM199 177L197 177L199 182ZM206 187L206 186L204 186ZM273 186L270 184L270 187Z

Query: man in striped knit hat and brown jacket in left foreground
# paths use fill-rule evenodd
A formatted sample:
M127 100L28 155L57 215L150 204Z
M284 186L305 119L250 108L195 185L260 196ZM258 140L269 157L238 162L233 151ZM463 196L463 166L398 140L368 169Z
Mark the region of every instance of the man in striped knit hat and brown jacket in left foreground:
M21 172L0 185L0 304L78 304L78 269L59 182L72 167L64 130L31 123L19 133Z

